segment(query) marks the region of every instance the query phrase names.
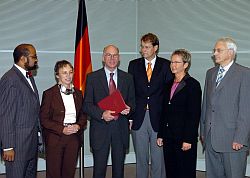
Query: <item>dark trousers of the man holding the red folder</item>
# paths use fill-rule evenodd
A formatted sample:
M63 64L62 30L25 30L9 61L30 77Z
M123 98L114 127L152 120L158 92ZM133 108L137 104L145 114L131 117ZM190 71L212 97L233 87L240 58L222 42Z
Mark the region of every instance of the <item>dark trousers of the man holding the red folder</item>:
M111 121L109 124L109 134L105 144L100 149L93 149L94 169L93 178L105 178L109 151L111 148L112 178L124 177L124 160L126 149L122 142L118 123Z

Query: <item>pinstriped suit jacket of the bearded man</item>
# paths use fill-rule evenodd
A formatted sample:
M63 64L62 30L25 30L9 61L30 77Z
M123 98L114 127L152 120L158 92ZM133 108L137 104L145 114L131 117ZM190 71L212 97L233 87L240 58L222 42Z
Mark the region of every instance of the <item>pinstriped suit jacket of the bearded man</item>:
M0 135L2 148L14 148L15 161L37 156L39 95L33 77L34 91L25 76L13 66L0 81Z

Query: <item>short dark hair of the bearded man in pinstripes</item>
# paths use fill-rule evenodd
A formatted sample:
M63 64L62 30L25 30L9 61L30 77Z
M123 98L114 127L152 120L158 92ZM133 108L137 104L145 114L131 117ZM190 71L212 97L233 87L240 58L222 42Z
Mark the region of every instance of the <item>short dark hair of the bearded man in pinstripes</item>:
M27 57L30 54L28 47L34 48L32 44L20 44L14 49L13 58L15 64L19 62L22 56Z

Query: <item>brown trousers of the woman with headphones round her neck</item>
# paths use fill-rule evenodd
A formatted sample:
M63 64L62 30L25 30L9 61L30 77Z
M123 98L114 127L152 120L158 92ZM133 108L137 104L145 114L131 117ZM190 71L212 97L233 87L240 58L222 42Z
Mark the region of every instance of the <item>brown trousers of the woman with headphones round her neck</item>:
M55 145L45 145L46 178L74 178L80 148L76 134L63 135Z

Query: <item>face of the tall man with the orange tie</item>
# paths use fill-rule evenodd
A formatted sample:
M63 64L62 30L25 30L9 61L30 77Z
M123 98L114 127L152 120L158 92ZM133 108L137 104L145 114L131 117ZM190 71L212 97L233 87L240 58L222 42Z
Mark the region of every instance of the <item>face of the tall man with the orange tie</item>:
M141 41L141 55L147 60L151 61L156 55L158 45L153 46L151 42Z

